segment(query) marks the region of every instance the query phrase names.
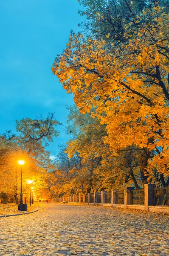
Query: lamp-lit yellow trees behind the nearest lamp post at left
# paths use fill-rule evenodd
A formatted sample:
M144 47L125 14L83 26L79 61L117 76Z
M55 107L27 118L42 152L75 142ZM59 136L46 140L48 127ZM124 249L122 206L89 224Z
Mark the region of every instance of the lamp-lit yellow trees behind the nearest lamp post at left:
M17 121L18 136L7 131L0 137L0 191L18 200L20 191L20 167L17 161L25 160L23 168L23 193L29 191L27 180L34 180L36 190L47 187L44 182L49 170L54 166L50 152L45 148L53 137L58 136L55 126L59 122L54 113L46 118L41 115L36 119L25 118Z

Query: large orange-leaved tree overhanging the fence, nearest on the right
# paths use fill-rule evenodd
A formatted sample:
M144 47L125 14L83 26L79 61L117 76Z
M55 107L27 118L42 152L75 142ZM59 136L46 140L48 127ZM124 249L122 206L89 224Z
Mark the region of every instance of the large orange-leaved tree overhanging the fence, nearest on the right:
M106 5L107 1L99 2ZM109 19L112 30L107 31L105 38L72 32L52 71L67 92L74 94L82 113L95 109L93 117L106 125L104 143L113 154L132 145L143 149L140 162L143 183L155 168L166 186L169 184L168 10L161 1L149 1L149 6L142 9L135 6L136 1L115 3L118 8L111 9ZM121 15L121 3L126 3L130 15ZM106 18L101 12L93 15L96 20ZM113 15L119 16L121 25ZM119 38L115 32L118 27Z

